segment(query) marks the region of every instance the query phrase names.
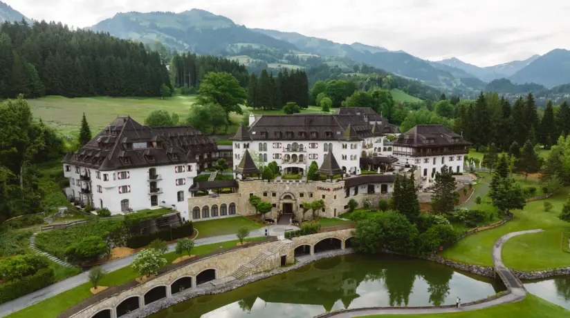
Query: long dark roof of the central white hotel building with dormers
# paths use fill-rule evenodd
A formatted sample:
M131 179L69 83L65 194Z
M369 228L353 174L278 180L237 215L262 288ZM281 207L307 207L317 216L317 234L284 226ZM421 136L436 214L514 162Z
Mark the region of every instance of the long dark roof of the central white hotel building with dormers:
M348 134L347 128L349 128ZM348 135L348 137L347 137ZM362 140L373 137L369 123L351 115L263 115L231 140Z

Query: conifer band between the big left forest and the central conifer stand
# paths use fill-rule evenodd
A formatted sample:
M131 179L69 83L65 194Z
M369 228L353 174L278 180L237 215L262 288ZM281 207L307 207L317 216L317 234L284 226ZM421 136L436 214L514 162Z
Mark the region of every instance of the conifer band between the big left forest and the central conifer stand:
M242 87L246 87L249 80L248 70L238 61L194 53L174 52L170 59L169 72L175 88L194 88L194 91L198 90L208 72L228 72Z

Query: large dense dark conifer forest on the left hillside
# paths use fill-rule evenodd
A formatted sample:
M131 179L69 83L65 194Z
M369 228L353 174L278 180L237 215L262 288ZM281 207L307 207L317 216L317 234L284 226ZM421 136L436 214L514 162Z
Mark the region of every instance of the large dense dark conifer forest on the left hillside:
M157 52L61 23L0 26L0 97L160 96L170 86Z

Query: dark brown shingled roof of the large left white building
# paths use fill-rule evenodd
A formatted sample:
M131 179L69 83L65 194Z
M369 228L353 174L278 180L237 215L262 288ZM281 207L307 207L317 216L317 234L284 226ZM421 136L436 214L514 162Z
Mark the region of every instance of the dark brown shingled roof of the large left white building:
M134 148L133 143L147 143ZM119 116L64 163L117 170L196 162L196 154L217 151L216 144L192 126L148 127Z

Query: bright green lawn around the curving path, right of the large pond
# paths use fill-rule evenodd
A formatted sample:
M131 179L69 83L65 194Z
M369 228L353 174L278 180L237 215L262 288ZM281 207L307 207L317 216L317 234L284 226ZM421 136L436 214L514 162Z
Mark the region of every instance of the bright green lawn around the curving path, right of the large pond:
M447 259L468 264L493 266L491 253L495 241L509 232L542 229L544 232L520 235L509 239L503 247L504 264L515 270L535 271L570 266L570 254L562 251L562 232L570 230L570 223L558 219L570 188L560 190L547 199L550 212L544 212L544 200L526 204L524 210L515 210L515 218L502 226L485 230L461 239L441 255ZM488 198L484 199L484 202ZM494 209L488 203L479 210Z

